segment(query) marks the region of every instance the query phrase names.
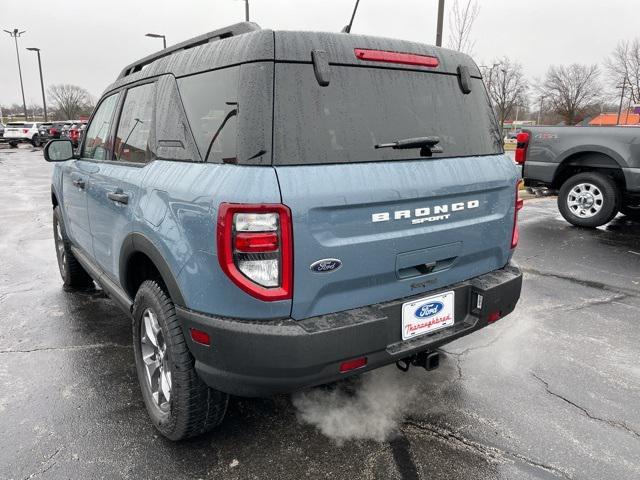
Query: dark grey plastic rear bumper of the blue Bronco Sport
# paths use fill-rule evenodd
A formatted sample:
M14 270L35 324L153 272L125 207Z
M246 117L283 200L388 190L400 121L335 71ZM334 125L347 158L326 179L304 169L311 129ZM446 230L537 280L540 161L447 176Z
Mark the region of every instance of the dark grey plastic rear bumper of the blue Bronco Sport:
M510 264L443 290L455 291L456 323L402 341L402 304L437 292L305 320L247 321L177 308L196 370L212 388L239 396L287 393L435 350L488 325L489 313L511 313L520 297L522 273ZM477 307L477 295L483 296ZM190 328L209 333L211 346L194 343ZM341 362L362 356L367 365L341 374Z

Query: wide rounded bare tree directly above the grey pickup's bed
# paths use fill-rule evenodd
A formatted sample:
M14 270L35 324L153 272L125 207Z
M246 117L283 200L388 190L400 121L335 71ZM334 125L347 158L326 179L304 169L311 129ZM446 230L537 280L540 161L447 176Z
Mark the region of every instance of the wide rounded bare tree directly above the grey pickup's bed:
M601 99L598 65L551 66L538 90L550 109L573 125L585 109Z

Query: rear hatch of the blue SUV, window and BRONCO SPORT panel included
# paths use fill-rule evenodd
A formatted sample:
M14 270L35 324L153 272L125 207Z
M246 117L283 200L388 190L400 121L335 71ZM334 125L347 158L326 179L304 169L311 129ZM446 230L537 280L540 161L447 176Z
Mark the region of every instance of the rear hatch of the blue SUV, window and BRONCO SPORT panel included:
M504 266L517 172L475 64L407 42L350 37L345 47L311 38L276 34L273 163L293 216L293 318L426 293ZM381 47L435 56L439 66L354 53ZM307 62L298 57L305 49ZM308 61L313 49L328 52L328 86ZM460 65L473 74L470 93ZM437 136L443 152L374 148L425 136Z

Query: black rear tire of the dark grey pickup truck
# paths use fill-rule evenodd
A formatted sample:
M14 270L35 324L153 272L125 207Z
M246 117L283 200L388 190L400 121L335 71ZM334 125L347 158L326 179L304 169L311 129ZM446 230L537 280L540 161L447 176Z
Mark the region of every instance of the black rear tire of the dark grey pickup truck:
M570 207L568 202L576 199L574 188L587 185L582 189L589 199L594 198L594 192L598 197L592 208L582 209L574 205ZM591 191L589 191L591 189ZM589 197L589 195L591 195ZM570 197L571 196L571 197ZM589 205L588 202L586 205ZM584 172L574 175L562 184L558 193L558 209L564 219L577 227L599 227L610 222L616 216L620 208L620 192L611 177L598 172ZM583 212L586 216L581 216Z

